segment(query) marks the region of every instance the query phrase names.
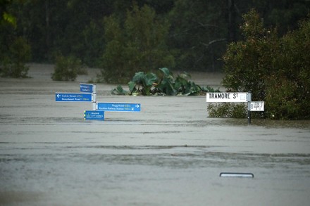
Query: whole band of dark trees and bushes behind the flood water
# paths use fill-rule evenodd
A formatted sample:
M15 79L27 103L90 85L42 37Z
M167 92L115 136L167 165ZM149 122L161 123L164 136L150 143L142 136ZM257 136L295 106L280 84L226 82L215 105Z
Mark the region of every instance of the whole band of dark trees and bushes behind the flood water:
M109 83L163 67L225 72L225 88L266 101L262 116L310 118L309 0L0 0L0 6L1 77L27 77L30 61L55 64L54 80L75 80L85 66L101 68L97 82Z

